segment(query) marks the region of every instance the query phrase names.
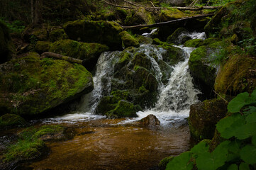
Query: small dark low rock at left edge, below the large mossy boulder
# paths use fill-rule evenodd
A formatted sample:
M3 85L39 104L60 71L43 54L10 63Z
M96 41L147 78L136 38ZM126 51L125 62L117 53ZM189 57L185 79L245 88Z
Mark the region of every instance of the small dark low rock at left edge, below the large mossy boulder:
M5 114L0 117L1 128L12 128L17 126L24 126L26 124L26 120L21 118L19 115Z

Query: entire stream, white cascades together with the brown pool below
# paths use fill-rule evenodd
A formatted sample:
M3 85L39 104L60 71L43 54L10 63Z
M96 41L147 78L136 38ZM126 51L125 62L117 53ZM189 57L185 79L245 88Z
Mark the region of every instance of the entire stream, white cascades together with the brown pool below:
M204 33L191 33L191 38L204 39ZM152 62L159 82L159 97L154 108L137 113L138 118L108 119L94 114L100 99L111 91L113 63L116 52L104 52L99 57L94 76L94 90L84 96L75 113L42 120L42 124L65 125L75 131L72 140L47 142L50 154L18 169L157 169L161 159L175 156L190 148L189 107L198 102L192 77L189 74L191 47L179 47L184 61L172 67L167 84L161 82L162 73L152 52L161 60L165 52L155 45L140 45ZM106 81L102 81L102 77ZM145 128L136 122L153 114L160 126Z

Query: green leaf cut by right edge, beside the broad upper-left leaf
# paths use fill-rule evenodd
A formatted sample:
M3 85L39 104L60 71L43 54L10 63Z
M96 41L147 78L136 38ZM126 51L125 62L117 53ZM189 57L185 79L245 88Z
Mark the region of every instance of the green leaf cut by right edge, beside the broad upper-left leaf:
M247 123L245 125L240 126L240 128L235 130L235 137L238 140L245 140L246 138L256 135L256 123Z

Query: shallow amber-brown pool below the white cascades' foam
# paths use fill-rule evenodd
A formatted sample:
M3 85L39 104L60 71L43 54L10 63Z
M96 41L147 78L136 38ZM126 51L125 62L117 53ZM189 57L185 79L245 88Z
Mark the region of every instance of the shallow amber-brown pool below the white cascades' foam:
M21 169L153 169L161 159L189 149L189 127L143 128L118 120L91 120L72 126L73 140L48 142L50 154Z

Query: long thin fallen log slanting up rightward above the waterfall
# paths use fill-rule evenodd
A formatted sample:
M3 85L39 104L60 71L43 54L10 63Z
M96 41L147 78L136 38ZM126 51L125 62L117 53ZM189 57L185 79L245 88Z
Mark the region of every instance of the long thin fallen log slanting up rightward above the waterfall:
M207 16L213 16L213 15L214 15L214 13L208 13L208 14L203 14L203 15L199 15L199 16L179 18L179 19L172 20L172 21L166 21L166 22L161 22L161 23L153 23L153 24L150 24L150 25L140 24L140 25L136 25L136 26L121 26L119 24L119 26L121 26L121 28L123 28L123 29L139 29L139 28L145 28L145 27L153 28L153 27L166 26L170 23L178 23L178 22L181 22L181 21L188 21L188 20L191 20L191 19L204 18L204 17L207 17Z

